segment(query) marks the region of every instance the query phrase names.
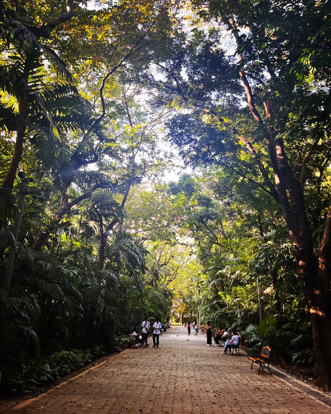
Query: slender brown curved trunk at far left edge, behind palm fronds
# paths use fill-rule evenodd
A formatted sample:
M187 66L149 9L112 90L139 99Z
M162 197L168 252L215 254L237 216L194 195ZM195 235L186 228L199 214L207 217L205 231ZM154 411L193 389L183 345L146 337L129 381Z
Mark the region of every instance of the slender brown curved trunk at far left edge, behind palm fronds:
M14 147L14 155L12 157L12 161L8 168L7 174L5 176L5 180L2 183L2 188L8 188L12 190L14 186L15 176L17 169L19 167L19 162L21 161L22 154L23 154L23 143L24 143L24 136L26 130L26 97L20 96L18 100L18 111L19 111L19 118L17 123L17 134L16 134L16 142Z

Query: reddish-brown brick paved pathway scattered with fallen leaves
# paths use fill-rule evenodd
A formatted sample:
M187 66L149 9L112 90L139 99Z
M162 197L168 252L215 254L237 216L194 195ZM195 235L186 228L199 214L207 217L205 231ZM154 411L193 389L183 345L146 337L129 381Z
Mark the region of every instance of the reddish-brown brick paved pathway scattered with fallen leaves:
M128 349L10 412L331 414L276 376L250 371L246 357L221 350L207 347L204 335L170 330L160 337L160 348Z

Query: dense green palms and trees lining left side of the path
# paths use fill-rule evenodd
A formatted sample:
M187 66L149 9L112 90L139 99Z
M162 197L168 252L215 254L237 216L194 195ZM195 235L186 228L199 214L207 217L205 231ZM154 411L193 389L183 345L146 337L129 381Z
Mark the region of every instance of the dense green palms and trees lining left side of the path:
M1 2L1 286L17 171L34 178L0 291L4 387L33 386L54 351L109 353L145 315L170 316L170 291L149 284L148 251L123 227L131 186L162 166L152 125L162 114L137 105L120 70L164 38L168 6L130 6ZM49 365L53 378L65 372Z

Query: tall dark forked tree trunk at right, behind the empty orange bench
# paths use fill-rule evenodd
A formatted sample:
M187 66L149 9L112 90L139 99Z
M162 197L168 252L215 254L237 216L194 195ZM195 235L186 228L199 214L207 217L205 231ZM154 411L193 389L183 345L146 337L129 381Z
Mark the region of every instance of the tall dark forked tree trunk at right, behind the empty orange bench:
M234 21L229 22L237 42L240 78L245 88L247 103L252 116L260 127L264 122L257 111L254 96L244 71L244 59L241 54L240 34ZM276 136L269 121L273 119L270 101L264 101L267 129L265 142L268 148L271 166L276 183L276 189L281 202L283 215L288 228L290 239L295 246L295 258L298 273L305 282L304 294L310 316L313 332L313 344L316 351L319 368L319 379L324 391L331 391L331 295L330 295L330 266L331 266L331 203L326 218L324 235L318 255L314 254L312 231L307 217L304 188L304 171L300 181L293 175L292 168L285 153L282 138ZM309 152L309 156L311 151ZM308 154L307 154L308 156ZM303 170L306 168L302 165Z

